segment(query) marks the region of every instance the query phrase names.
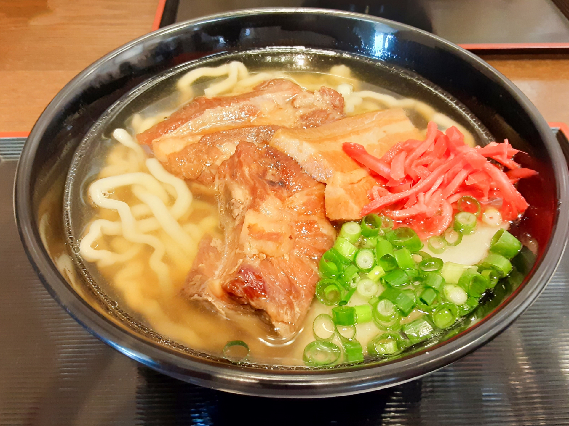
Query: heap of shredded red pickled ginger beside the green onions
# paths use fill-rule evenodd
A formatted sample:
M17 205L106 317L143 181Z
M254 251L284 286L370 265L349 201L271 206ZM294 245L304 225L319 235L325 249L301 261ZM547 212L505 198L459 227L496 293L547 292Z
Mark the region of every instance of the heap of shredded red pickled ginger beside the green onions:
M443 133L434 122L428 123L424 141L399 142L381 158L355 143L344 143L343 149L383 183L369 191L371 201L361 216L381 211L394 219L395 227L410 227L421 239L450 226L453 205L458 210L454 203L460 199L493 206L504 221L518 218L528 204L514 183L537 174L512 159L519 151L508 140L472 148L456 127Z

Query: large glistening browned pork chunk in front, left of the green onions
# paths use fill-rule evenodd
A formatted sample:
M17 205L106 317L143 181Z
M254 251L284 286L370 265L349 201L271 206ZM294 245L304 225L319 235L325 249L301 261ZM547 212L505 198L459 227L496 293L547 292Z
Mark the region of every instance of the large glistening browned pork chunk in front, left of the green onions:
M280 336L293 336L336 235L324 185L277 149L241 142L218 168L217 187L224 241L200 241L185 294L221 312L261 311Z

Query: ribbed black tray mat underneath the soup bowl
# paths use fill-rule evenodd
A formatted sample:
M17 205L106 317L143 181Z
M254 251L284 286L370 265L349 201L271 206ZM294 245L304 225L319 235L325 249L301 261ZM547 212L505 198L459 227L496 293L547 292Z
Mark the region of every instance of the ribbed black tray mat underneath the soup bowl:
M14 224L15 167L0 160L1 425L569 424L569 254L512 327L423 379L332 399L232 395L131 361L53 301Z

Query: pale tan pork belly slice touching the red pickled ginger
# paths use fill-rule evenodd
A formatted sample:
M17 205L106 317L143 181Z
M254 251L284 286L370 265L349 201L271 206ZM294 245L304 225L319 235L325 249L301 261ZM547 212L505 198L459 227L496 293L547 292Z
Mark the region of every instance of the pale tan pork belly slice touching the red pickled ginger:
M287 153L314 179L326 183L325 206L330 220L360 219L361 208L369 203L368 190L376 179L343 151L344 142L364 145L376 156L407 139L422 140L405 111L394 108L366 112L306 129L280 129L270 146Z

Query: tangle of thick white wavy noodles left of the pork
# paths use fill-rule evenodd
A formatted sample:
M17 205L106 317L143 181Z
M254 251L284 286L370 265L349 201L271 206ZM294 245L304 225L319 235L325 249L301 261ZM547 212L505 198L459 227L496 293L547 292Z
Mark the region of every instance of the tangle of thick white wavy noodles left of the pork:
M177 222L191 208L192 193L182 179L166 172L158 160L146 158L143 149L126 130L115 130L113 137L125 147L132 149L140 160L141 166L145 164L150 173L133 172L108 176L90 185L89 196L93 203L98 207L117 211L120 220L117 222L106 219L94 220L81 240L80 253L85 260L97 262L98 266L110 266L117 262L131 260L142 249L143 244L149 245L154 249L150 255L150 268L158 275L158 281L164 291L171 292L170 271L163 261L166 247L158 237L147 233L162 228L185 254L195 255L195 241ZM130 186L133 194L142 201L142 204L136 204L131 208L125 202L108 198L116 188L121 186ZM175 199L171 208L167 207L170 201L169 193ZM151 215L154 217L145 217ZM137 218L144 219L137 220ZM103 235L122 235L134 244L124 253L106 249L97 250L96 241Z

